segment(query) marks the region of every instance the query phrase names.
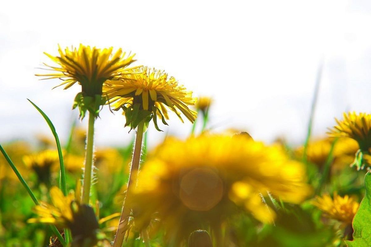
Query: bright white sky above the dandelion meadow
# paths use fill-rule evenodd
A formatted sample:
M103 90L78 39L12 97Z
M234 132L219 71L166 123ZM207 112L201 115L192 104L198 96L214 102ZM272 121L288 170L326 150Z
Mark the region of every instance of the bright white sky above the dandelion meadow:
M58 80L34 74L50 63L43 51L57 54L58 44L83 43L132 51L137 64L164 69L195 96L212 96L210 126L217 130L234 127L258 140L285 136L298 143L321 57L315 134L345 110L369 112L370 23L367 0L1 1L0 142L49 134L26 98L66 139L78 115L71 106L79 86L51 90ZM160 128L186 136L191 124L173 119ZM97 143L128 140L124 121L106 107L96 122ZM149 131L152 144L165 136L153 126Z

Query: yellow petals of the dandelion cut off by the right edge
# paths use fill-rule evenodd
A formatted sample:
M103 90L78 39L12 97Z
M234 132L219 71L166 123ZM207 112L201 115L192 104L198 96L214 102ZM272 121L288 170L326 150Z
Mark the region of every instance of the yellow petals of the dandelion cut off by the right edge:
M371 147L371 114L349 112L343 114L343 120L328 133L331 137L350 137L356 140L361 150Z

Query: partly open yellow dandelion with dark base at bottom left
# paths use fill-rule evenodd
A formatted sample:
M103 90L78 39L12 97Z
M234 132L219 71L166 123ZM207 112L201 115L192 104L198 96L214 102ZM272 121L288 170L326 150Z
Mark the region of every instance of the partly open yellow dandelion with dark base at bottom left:
M96 234L99 230L98 220L92 207L79 204L73 193L63 196L58 187L50 189L53 205L41 202L35 206L37 218L31 218L28 223L53 224L59 228L68 227L71 230L72 246L95 246Z

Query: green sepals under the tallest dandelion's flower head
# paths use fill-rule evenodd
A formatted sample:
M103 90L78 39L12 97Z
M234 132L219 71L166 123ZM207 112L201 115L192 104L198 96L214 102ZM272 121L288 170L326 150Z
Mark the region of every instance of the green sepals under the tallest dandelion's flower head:
M92 96L84 96L82 92L76 94L75 100L73 101L72 109L79 108L80 116L79 118L82 120L85 115L86 111L93 114L95 117L99 117L99 111L101 111L101 107L107 101L106 96L102 96L96 94L94 97Z

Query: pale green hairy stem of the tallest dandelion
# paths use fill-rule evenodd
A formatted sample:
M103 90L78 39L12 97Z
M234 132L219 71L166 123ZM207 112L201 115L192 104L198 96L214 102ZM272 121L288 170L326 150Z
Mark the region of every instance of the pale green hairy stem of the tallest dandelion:
M82 188L81 199L82 204L89 204L93 166L94 121L95 121L94 114L89 112L88 136L86 137L84 183Z

